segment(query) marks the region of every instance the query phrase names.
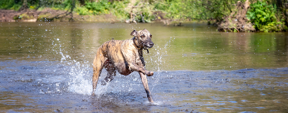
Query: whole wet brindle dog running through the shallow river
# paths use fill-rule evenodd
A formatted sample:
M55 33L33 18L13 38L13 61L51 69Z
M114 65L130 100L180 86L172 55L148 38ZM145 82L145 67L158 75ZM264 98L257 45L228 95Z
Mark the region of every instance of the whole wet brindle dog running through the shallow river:
M103 67L108 71L106 78L101 85L105 85L111 81L116 75L116 70L121 75L129 75L133 71L138 71L146 90L148 100L153 103L153 99L148 87L147 76L152 76L152 71L145 69L145 61L143 58L143 49L148 51L154 43L151 41L152 35L146 29L140 31L132 31L130 35L134 37L127 40L111 40L101 45L93 61L93 92L97 86L98 78Z

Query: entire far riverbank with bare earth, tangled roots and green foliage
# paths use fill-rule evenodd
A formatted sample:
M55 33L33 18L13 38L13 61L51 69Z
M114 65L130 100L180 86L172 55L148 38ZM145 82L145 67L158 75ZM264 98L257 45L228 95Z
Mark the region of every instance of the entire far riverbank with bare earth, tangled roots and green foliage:
M0 9L6 9L0 10L0 22L151 23L161 21L164 25L181 26L181 23L186 21L207 21L208 25L218 26L218 31L222 32L288 31L287 2L245 1L7 0L0 2Z

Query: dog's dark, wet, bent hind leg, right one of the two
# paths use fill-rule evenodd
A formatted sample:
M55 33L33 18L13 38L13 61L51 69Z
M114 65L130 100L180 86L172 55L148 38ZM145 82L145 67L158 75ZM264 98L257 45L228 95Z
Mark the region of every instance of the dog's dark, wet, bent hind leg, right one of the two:
M107 82L112 81L116 76L116 68L114 65L108 60L105 61L104 67L107 70L107 76L104 80L101 81L101 85L106 85Z

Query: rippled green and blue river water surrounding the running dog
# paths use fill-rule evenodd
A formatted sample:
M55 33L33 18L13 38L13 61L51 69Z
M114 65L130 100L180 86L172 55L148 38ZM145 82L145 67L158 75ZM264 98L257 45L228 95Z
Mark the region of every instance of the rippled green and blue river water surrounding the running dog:
M97 48L146 28L155 103L137 72L92 93ZM0 23L0 112L287 112L288 33L184 23ZM104 69L100 80L105 78Z

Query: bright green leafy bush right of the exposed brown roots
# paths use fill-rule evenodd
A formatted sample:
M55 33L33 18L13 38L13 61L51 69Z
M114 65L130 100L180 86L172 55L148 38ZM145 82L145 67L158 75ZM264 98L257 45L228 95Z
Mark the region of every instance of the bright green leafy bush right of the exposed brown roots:
M247 18L254 23L254 27L262 32L275 32L283 30L283 23L276 18L276 5L257 1L250 5Z

